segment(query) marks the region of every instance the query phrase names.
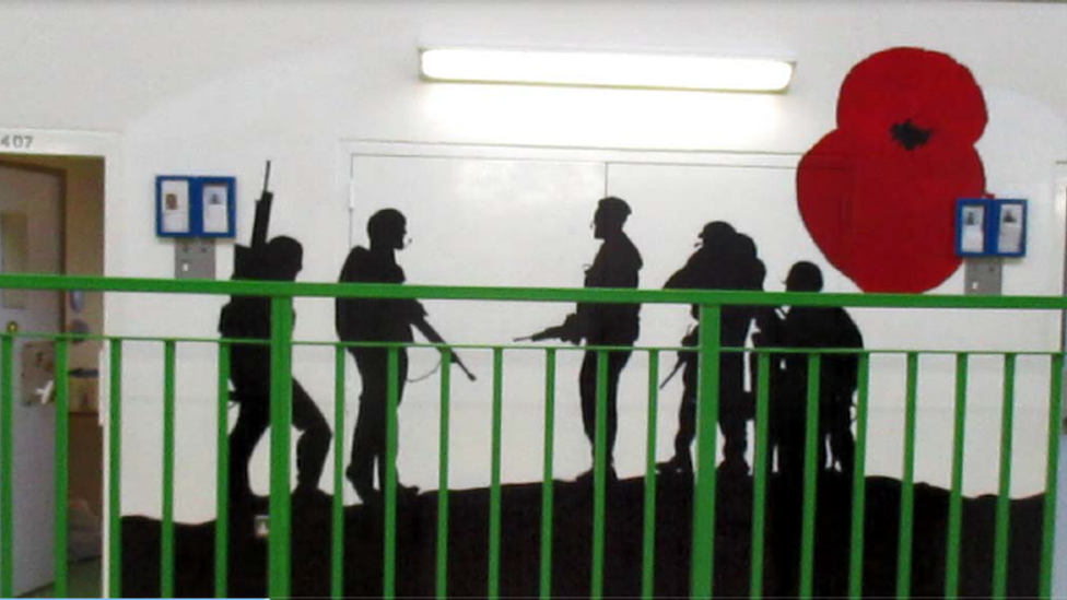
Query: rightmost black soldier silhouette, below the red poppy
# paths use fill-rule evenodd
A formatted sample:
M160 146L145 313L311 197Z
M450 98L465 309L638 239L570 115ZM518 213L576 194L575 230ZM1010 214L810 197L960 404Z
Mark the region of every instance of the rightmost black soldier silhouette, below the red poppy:
M787 292L822 291L822 271L800 261L789 269ZM776 348L863 349L864 338L841 307L795 306L769 328L765 345ZM783 354L774 375L772 445L778 470L799 485L804 472L808 357ZM855 460L852 434L852 398L858 383L856 353L823 354L819 376L819 469L840 469L849 477ZM828 459L826 447L830 455Z

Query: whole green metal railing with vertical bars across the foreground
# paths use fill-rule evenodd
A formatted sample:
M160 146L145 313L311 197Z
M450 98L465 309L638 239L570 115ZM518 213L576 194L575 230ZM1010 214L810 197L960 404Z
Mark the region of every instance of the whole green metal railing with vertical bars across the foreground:
M290 458L291 458L291 425L292 425L292 354L294 345L300 345L292 339L292 303L294 297L363 297L363 298L419 298L444 301L502 301L502 302L540 302L540 303L642 303L642 304L695 304L700 309L701 338L700 352L700 383L699 383L699 417L696 446L696 475L694 482L693 526L692 526L692 566L690 590L693 598L710 598L715 595L714 564L715 564L715 519L716 519L716 450L718 421L718 380L719 357L723 352L738 352L739 349L724 349L719 344L722 307L727 305L748 306L847 306L861 308L923 308L923 309L1029 309L1058 310L1067 309L1067 299L1059 297L963 297L963 296L916 296L916 295L876 295L876 294L784 294L754 292L682 292L682 291L634 291L634 290L562 290L562 289L497 289L497 287L442 287L415 285L377 285L377 284L318 284L318 283L279 283L279 282L209 282L209 281L173 281L173 280L141 280L118 278L78 278L55 275L0 275L0 289L50 290L50 291L84 291L106 293L152 293L152 294L201 294L212 296L268 296L271 298L272 331L269 341L271 350L271 486L270 486L270 542L269 542L269 593L273 598L291 596L291 507L290 507ZM20 334L30 337L31 334ZM13 558L14 528L12 506L14 490L12 483L12 451L13 437L17 435L12 426L14 387L14 341L12 333L0 334L0 451L3 464L0 466L0 596L10 597L13 591ZM40 336L38 336L40 337ZM69 344L74 340L71 336L50 336L56 342L57 373L66 373ZM219 340L191 338L136 338L129 336L106 336L95 339L109 343L110 372L109 390L110 403L108 417L108 464L109 479L107 482L107 501L109 519L107 530L109 543L109 569L107 581L112 597L121 596L121 419L122 419L122 351L124 344L131 341L161 343L164 350L164 381L163 381L163 482L162 482L162 536L161 536L161 595L172 597L175 592L175 533L174 533L174 467L175 467L175 421L174 404L178 393L175 377L176 348L186 343L210 343L219 348L218 357L218 415L219 415L219 458L218 458L218 521L215 529L215 581L214 591L219 597L227 592L227 413L228 363L234 343L248 343L247 340ZM265 342L266 343L266 342ZM306 345L323 345L310 344ZM335 489L343 489L342 456L343 456L343 405L344 405L344 360L345 349L350 345L382 345L388 348L388 410L387 410L387 454L385 482L385 513L383 540L383 581L382 590L386 598L397 595L397 416L398 403L398 344L326 344L335 348ZM448 589L448 475L449 475L449 410L450 410L450 379L449 364L453 362L454 349L483 349L492 352L492 460L489 504L488 530L488 576L485 595L497 598L501 593L501 469L502 469L502 419L503 419L503 381L504 356L512 351L541 352L544 356L544 455L543 455L543 487L541 494L542 522L540 529L540 597L552 597L553 568L553 452L555 435L555 378L558 353L575 350L573 346L521 346L514 344L494 345L441 345L441 344L406 344L438 349L442 353L444 367L441 370L441 422L439 422L439 494L437 510L441 518L436 533L436 574L434 577L435 591L438 598L447 598ZM588 349L579 349L588 350ZM597 435L595 439L596 459L594 466L594 518L591 522L593 545L590 556L589 589L593 598L600 598L605 583L605 510L607 495L607 464L605 461L605 446L607 420L606 389L608 377L607 352L612 348L593 349L598 353L596 398ZM642 540L642 576L641 590L643 598L655 597L655 549L656 549L656 428L658 412L657 379L659 376L659 355L664 351L679 350L675 348L642 348L636 352L647 356L648 361L648 393L647 393L647 438L645 461L644 490L644 530ZM848 590L852 598L859 598L864 590L864 518L865 518L865 460L867 452L867 432L869 415L869 374L872 354L903 354L906 358L906 398L905 398L905 428L903 439L903 466L901 505L899 515L899 549L896 595L899 598L911 597L912 581L912 541L914 530L914 474L915 474L915 438L917 411L917 381L919 375L921 354L948 354L955 357L955 403L954 403L954 435L952 440L952 474L951 497L949 501L949 526L946 553L946 584L948 597L958 593L960 581L960 543L962 536L962 480L964 462L964 431L966 419L966 384L969 374L969 358L974 354L996 354L1004 356L1004 390L1001 417L1001 448L999 459L999 498L996 511L996 540L992 586L996 597L1004 597L1007 592L1008 573L1008 540L1010 533L1010 478L1012 464L1012 417L1015 410L1015 378L1016 362L1021 355L1045 356L1050 360L1051 380L1048 385L1048 438L1046 462L1045 510L1043 521L1043 538L1041 546L1040 581L1037 589L1041 596L1047 597L1052 591L1052 569L1055 556L1055 510L1056 505L1056 473L1059 444L1059 422L1062 419L1060 396L1063 392L1064 355L1062 352L919 352L914 350L861 350L841 351L833 349L744 349L744 352L757 352L757 374L759 393L755 399L757 435L754 437L753 460L753 494L752 494L752 546L750 593L753 598L763 596L763 575L766 550L766 493L769 486L770 448L767 443L767 420L771 399L769 396L770 360L775 353L802 352L808 357L808 388L807 399L807 436L804 461L802 484L802 515L801 540L798 569L799 590L802 597L814 593L814 561L816 561L816 518L818 495L817 446L819 422L819 383L822 368L821 356L841 352L856 352L859 358L859 381L856 399L856 452L854 472L852 473L852 522L851 522L851 558L848 563ZM56 431L56 556L55 574L56 596L67 593L67 421L66 407L69 389L65 377L59 377L56 387L57 431ZM332 562L330 585L335 597L343 596L344 566L344 531L342 495L335 494L331 507Z

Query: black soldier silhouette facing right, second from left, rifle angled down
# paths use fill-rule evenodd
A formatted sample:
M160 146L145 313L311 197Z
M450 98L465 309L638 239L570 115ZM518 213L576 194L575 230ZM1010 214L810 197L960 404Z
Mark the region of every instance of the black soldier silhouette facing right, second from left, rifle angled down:
M403 269L397 263L396 252L404 248L407 220L400 211L384 209L367 221L370 248L352 248L341 269L341 283L403 283ZM411 328L418 329L433 343L445 343L441 334L426 321L426 310L415 299L338 298L335 325L337 334L345 342L412 342ZM386 481L386 409L389 390L388 350L385 348L350 346L355 358L363 391L360 395L360 415L352 440L352 458L345 472L356 494L364 503L380 498ZM408 352L397 350L398 381L397 403L403 398L408 377ZM471 380L458 354L454 363ZM374 486L377 467L378 487ZM403 496L418 493L418 487L398 483Z

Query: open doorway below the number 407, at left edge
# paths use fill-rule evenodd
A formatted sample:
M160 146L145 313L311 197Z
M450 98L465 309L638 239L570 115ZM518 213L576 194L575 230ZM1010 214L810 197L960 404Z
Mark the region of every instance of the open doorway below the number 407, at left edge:
M0 154L0 269L102 275L104 178L104 158L98 156ZM0 326L9 330L104 331L101 294L3 291L0 296ZM98 341L75 341L69 346L67 556L69 592L79 597L101 592L99 351ZM55 376L49 372L50 352L50 345L40 341L21 341L15 349L14 591L19 596L47 595L54 581L56 407L45 381ZM35 373L37 366L44 373Z

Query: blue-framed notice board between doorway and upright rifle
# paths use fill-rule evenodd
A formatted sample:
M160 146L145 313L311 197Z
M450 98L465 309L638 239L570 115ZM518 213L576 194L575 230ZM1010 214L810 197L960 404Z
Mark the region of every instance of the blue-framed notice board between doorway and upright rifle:
M161 237L234 237L234 177L160 175L155 178L155 233Z

